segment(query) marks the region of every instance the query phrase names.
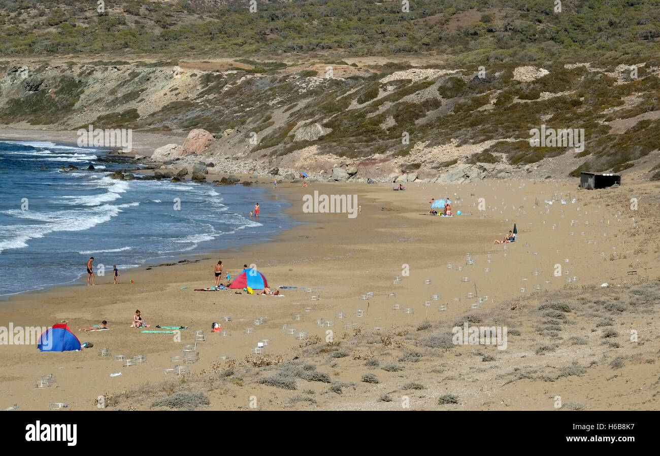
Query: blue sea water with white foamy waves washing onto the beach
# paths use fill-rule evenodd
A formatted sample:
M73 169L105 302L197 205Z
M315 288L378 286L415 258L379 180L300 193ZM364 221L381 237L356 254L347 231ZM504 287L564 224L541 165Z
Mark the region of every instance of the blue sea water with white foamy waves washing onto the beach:
M114 264L119 281L129 281L130 268L263 242L292 225L282 212L288 202L265 188L117 181L106 173L132 165L103 157L92 148L0 140L0 296L81 283L90 256L95 273L105 269L96 283L112 281ZM90 164L97 171L87 171ZM67 165L80 169L59 169ZM249 216L255 202L258 221ZM239 262L237 272L251 260Z

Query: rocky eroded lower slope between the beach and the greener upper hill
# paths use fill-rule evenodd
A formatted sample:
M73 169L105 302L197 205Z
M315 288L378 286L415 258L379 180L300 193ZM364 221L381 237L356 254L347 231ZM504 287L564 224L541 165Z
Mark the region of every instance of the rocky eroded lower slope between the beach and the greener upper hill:
M247 59L181 63L174 77L175 63L5 61L2 120L182 136L203 128L216 137L209 157L312 173L355 165L364 179L428 179L471 163L541 179L583 169L659 177L660 68L644 62L631 63L637 78L628 66L560 61L545 71L502 64L484 77L444 65ZM531 147L529 130L541 125L584 128L584 150Z

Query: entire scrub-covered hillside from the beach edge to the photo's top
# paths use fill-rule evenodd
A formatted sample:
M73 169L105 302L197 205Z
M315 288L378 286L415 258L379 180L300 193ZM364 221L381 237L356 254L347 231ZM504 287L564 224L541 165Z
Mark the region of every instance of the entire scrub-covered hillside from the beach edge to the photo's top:
M203 128L211 159L356 179L660 179L659 5L0 0L1 120ZM531 147L543 125L583 147Z

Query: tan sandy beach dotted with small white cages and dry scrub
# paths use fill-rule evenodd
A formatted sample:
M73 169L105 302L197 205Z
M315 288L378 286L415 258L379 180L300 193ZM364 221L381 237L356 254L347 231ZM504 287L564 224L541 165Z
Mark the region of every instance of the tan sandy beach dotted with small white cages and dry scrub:
M304 214L302 195L314 190L357 194L362 213L356 218ZM589 191L578 190L577 181L411 183L405 192L393 192L389 185L312 183L302 188L285 183L272 192L292 201L288 212L293 217L310 223L271 242L189 257L208 258L194 264L123 271L119 285L112 285L110 276L98 277L96 287L62 287L3 302L0 326L50 326L66 320L81 342L94 347L80 353L40 353L34 345L1 345L0 408L16 403L23 410L42 410L64 402L73 410L92 410L97 397L104 396L109 409L143 410L181 391L207 395L207 408L213 410L251 405L553 410L556 396L568 409L660 408L657 295L630 295L639 287L646 287L648 295L660 289L660 185L624 182L620 188ZM431 197L445 196L455 200L454 212L463 215L420 215L428 211ZM479 198L484 198L485 211L478 209ZM638 198L638 210L630 209L631 198ZM494 245L514 222L517 242ZM473 262L466 260L468 254ZM255 264L271 287L312 291L281 290L284 297L193 291L213 284L218 259L232 277L243 264ZM554 276L556 264L562 266L560 277ZM637 274L628 275L632 270ZM397 275L402 279L395 284ZM128 283L131 279L134 283ZM603 283L609 287L601 287ZM479 308L473 308L479 298L469 295L475 287L478 297L487 297ZM370 291L374 297L361 299ZM543 302L566 302L571 312L538 310ZM393 310L395 304L399 310ZM439 310L443 304L446 310ZM181 331L181 341L141 333L129 328L136 308L150 329L156 324L190 329ZM339 312L345 318L338 318ZM480 321L477 326L515 329L507 349L424 346L434 334L450 333L468 314ZM231 321L223 322L224 316ZM260 317L263 324L255 324ZM78 331L103 319L114 329ZM318 326L317 319L332 326ZM605 320L610 323L599 326ZM231 335L212 333L212 322L221 322ZM428 324L420 326L422 322ZM304 331L308 339L288 335L284 325ZM616 335L605 333L611 328ZM197 329L205 330L207 341L197 344L199 361L187 365L191 374L164 374L176 364L170 358L182 355L182 345L193 342ZM637 343L630 342L630 329L638 331ZM332 343L326 343L327 331L333 331ZM574 345L571 337L579 342ZM267 356L249 357L263 339L268 339ZM147 362L122 366L112 356L99 356L105 347L112 355L144 355ZM221 355L232 359L218 360ZM620 362L612 363L617 356ZM263 365L269 362L280 364ZM403 370L388 372L385 364ZM296 390L258 382L278 371L279 378L297 376ZM117 372L121 376L110 377ZM305 372L317 372L320 381L308 381L314 376ZM47 374L54 374L57 383L35 388L34 381ZM366 374L374 374L378 383L364 382ZM414 389L418 387L424 389ZM455 395L457 403L439 405L443 395Z

